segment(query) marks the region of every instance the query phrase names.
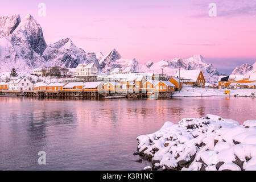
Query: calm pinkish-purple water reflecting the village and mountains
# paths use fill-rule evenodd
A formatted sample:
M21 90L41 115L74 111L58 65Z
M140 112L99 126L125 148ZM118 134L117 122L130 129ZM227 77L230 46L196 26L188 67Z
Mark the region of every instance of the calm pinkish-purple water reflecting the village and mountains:
M0 97L0 169L141 170L136 138L166 121L217 114L256 118L256 98L37 100ZM46 165L38 152L46 151Z

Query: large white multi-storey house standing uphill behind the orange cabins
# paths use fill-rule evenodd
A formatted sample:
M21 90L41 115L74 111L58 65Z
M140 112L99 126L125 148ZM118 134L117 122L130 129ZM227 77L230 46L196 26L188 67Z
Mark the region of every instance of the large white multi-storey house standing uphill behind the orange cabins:
M75 77L97 76L98 68L94 63L79 64L74 72Z

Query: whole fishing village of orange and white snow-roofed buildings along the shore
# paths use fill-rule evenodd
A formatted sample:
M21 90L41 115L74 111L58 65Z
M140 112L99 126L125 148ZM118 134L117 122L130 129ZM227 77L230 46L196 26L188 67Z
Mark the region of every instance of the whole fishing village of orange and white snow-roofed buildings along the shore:
M8 82L0 83L1 96L26 97L84 97L84 98L169 98L190 85L194 88L211 87L215 89L255 89L256 76L220 76L218 84L207 83L203 72L197 70L178 70L175 76L164 73L132 72L130 68L115 68L109 74L98 73L95 64L79 64L72 76L61 78L60 68L34 69L33 76L50 76L50 80L33 83L27 76L10 77ZM51 81L51 76L59 76L60 81ZM226 92L229 93L229 92Z

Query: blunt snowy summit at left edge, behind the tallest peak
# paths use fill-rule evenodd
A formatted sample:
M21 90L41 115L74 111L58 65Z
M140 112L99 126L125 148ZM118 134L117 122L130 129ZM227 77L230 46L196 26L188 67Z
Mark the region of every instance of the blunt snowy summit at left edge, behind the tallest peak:
M9 36L20 23L19 15L0 17L0 38Z

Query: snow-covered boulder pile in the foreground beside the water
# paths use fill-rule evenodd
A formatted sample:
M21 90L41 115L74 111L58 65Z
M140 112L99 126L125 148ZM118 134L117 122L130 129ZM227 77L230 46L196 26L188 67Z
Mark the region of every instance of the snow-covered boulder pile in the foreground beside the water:
M137 140L139 154L152 164L144 170L256 170L256 120L240 125L207 114L166 122Z

